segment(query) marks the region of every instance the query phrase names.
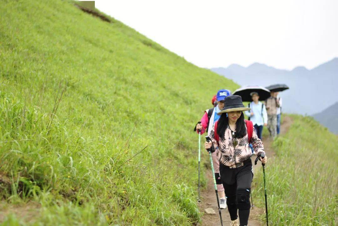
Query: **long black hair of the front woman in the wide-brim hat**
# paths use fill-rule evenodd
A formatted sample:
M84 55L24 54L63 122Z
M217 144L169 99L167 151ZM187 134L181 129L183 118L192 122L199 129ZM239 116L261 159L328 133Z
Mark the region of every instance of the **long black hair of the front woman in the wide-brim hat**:
M228 127L228 117L227 114L223 113L218 120L217 124L217 134L220 138L224 139L224 133ZM241 139L246 135L246 125L244 121L244 114L241 112L241 116L237 119L236 122L236 138Z

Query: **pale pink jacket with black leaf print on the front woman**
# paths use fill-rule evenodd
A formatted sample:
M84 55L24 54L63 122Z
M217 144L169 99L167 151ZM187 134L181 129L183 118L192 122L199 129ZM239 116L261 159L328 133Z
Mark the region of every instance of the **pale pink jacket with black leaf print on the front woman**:
M214 139L214 126L210 131L210 138L214 144L216 149L217 158L220 163L224 166L228 166L230 168L237 168L243 166L243 162L250 158L252 155L251 149L249 147L248 142L248 134L246 134L241 139L236 139L237 142L234 142L232 132L229 128L225 130L224 138L219 137L219 145L217 141ZM234 147L234 143L237 145ZM262 141L258 138L256 130L252 132L252 145L254 146L254 151L256 155L264 152L264 147Z

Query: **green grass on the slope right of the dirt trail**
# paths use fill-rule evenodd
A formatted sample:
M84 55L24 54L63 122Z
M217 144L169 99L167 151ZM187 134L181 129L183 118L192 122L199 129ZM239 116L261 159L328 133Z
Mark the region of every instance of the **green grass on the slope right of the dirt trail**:
M338 138L311 117L291 117L290 130L274 140L276 156L266 165L269 222L337 225ZM264 207L262 170L255 177L254 199Z

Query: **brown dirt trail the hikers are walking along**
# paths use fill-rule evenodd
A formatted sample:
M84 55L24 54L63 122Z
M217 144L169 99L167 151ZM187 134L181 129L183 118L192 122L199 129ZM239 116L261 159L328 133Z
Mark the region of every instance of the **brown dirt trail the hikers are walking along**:
M283 122L281 125L281 134L284 134L288 131L290 125L292 124L292 119L288 116L283 117ZM272 140L269 137L263 137L263 144L264 144L264 150L266 152L266 155L270 158L274 156L274 152L271 147ZM262 167L261 164L257 164L255 166L255 155L252 156L252 165L254 166L254 174L255 171L260 170ZM269 161L268 163L269 164ZM207 176L207 188L201 191L201 202L199 203L199 209L201 212L204 212L204 209L206 208L213 208L216 212L214 215L205 214L202 216L202 224L201 225L208 225L208 226L219 226L220 225L220 219L218 214L218 206L217 206L217 200L216 200L216 194L213 184L213 176L211 170L208 170L206 173ZM255 175L254 175L255 180ZM254 200L255 204L255 200ZM230 215L227 209L222 209L222 219L223 219L223 225L228 226L231 223ZM250 209L250 216L249 216L249 224L250 226L260 226L260 222L258 221L258 217L264 213L265 209L261 209L258 207L254 207L254 209ZM265 225L265 224L263 224Z

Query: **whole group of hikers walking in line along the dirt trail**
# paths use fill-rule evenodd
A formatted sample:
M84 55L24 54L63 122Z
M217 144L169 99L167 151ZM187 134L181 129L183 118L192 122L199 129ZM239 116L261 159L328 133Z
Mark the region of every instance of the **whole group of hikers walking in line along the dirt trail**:
M228 208L232 226L248 224L253 178L251 156L255 153L262 164L267 161L263 127L268 128L273 138L280 133L282 99L278 92L271 92L265 103L259 101L257 92L250 96L252 102L245 107L241 96L219 90L212 99L214 107L205 110L195 126L197 133L207 132L210 137L204 147L212 156L219 208ZM244 114L249 120L244 119Z

